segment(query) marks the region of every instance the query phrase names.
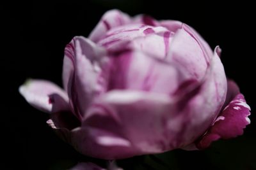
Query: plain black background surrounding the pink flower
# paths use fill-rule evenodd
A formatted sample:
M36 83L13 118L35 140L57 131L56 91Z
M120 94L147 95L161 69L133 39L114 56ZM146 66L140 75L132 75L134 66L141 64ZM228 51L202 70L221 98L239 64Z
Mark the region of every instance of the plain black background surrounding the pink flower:
M129 15L147 13L157 19L180 20L200 32L212 48L220 45L227 76L236 80L252 108L252 124L246 128L244 136L218 141L202 152L175 150L159 157L170 164L170 169L256 169L253 5L246 1L187 3L160 0L10 2L1 5L3 152L0 153L4 159L0 167L67 169L76 160L84 159L51 131L45 124L49 115L29 106L20 96L18 88L26 78L51 80L61 86L65 45L74 36L88 36L102 14L112 8ZM131 162L140 164L144 159L137 157L121 161L120 165L132 169Z

